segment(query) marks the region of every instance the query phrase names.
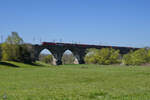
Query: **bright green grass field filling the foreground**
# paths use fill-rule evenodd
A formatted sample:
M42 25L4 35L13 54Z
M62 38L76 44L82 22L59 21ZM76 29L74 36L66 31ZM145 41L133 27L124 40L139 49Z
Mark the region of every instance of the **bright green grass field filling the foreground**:
M0 63L0 100L150 100L150 67Z

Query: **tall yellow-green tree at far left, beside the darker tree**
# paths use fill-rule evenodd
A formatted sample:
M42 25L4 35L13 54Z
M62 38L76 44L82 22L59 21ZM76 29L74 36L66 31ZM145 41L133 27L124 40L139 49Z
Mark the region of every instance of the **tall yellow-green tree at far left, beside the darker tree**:
M23 44L22 38L19 37L17 32L12 32L5 43L2 44L2 60L19 61L21 44Z

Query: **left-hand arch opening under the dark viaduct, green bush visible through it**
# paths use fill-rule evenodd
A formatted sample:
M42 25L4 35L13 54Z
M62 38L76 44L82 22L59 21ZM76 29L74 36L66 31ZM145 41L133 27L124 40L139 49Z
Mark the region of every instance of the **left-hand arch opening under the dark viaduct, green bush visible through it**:
M56 59L48 49L43 49L39 53L39 61L46 64L56 65Z

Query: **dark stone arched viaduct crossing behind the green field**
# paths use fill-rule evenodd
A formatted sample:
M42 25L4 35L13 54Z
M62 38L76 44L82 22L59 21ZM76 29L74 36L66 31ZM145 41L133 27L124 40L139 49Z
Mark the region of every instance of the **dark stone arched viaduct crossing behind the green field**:
M87 45L87 44L71 44L71 43L53 43L43 42L41 45L32 45L34 49L34 61L39 59L40 52L44 49L48 49L54 58L56 59L56 65L62 64L62 56L66 50L70 50L78 60L79 64L84 63L84 57L86 50L90 48L102 49L102 48L113 48L120 50L120 54L126 54L130 50L137 50L138 48L131 47L117 47L117 46L102 46L102 45Z

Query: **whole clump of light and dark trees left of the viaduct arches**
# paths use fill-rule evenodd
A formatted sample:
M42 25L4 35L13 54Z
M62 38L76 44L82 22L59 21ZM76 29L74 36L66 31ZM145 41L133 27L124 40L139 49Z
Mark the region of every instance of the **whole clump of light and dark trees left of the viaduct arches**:
M31 63L31 51L17 32L12 32L2 44L2 60Z

